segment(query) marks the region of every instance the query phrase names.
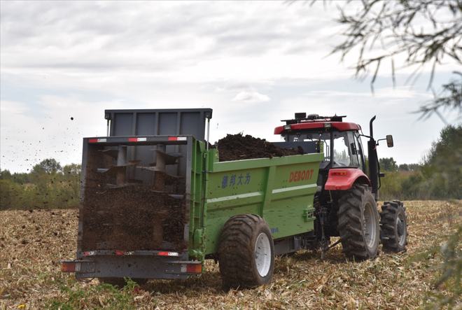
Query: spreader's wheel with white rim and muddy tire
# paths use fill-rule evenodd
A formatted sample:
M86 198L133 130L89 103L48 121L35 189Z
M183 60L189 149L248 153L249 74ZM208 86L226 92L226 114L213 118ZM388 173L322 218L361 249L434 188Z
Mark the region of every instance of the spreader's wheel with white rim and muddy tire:
M274 244L265 220L253 214L225 223L218 246L223 288L253 288L271 282Z

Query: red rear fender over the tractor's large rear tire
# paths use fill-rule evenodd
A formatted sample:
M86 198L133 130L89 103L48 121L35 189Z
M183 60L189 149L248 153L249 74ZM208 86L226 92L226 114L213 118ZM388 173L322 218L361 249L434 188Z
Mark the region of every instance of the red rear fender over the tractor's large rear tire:
M370 184L369 178L360 169L330 169L325 190L349 190L354 183Z

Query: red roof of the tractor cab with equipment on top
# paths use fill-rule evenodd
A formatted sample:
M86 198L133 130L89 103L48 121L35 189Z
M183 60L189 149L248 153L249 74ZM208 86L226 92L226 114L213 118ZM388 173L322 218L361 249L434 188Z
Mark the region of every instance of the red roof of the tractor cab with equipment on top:
M354 122L343 122L343 118L346 118L346 115L319 116L318 114L310 114L307 116L306 113L295 113L294 119L281 120L282 122L286 122L286 125L274 128L274 134L328 127L335 128L341 132L346 130L361 130L360 125Z

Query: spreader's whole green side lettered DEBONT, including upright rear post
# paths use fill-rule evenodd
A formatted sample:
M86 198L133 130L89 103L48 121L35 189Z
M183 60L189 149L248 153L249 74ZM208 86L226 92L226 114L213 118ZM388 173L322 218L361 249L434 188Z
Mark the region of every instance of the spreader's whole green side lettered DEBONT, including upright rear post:
M214 254L225 222L237 214L265 218L274 239L310 232L322 153L218 162L193 141L189 253ZM205 171L205 172L204 172Z

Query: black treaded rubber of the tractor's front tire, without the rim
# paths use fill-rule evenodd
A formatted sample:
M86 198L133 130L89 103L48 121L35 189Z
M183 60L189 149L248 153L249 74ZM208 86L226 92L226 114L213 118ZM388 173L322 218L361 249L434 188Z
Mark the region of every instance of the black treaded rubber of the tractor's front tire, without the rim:
M396 213L398 209L402 208L402 211L405 212L405 206L399 200L393 200L393 202L384 202L384 205L381 206L380 213L380 239L381 243L384 246L384 250L391 252L401 252L405 251L407 239L405 245L400 247L398 240L396 239L395 234L395 221ZM405 215L406 216L406 215ZM406 221L407 225L407 221ZM407 231L407 227L406 227Z

